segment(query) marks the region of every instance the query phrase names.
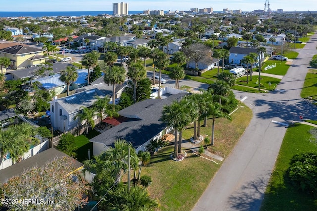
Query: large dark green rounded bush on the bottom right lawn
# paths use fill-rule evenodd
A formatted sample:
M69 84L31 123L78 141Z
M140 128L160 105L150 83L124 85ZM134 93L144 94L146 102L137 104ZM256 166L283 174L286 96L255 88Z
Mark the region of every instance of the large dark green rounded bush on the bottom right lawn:
M297 189L317 195L317 153L295 155L286 171L290 183Z

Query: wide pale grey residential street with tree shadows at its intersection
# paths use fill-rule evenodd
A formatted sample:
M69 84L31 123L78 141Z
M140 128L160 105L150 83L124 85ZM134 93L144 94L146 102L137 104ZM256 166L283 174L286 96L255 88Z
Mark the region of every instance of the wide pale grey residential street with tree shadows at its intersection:
M293 60L277 90L253 94L235 91L237 99L253 111L244 135L225 159L193 211L258 211L286 125L304 119L317 119L317 108L300 97L308 63L316 51L317 34ZM246 98L247 97L247 98Z

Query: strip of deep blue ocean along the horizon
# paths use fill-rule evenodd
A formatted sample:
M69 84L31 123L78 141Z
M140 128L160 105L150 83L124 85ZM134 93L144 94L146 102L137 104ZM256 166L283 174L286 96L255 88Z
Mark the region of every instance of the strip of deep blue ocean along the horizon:
M140 14L143 11L129 11L129 15ZM99 14L112 15L113 11L69 11L69 12L0 12L0 17L54 17L54 16L97 16Z

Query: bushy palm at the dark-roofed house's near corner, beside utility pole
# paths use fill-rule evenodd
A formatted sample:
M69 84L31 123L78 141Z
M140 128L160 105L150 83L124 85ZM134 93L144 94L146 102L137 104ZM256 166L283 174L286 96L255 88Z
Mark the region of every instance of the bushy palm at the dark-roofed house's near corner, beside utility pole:
M126 173L128 170L128 152L130 148L130 162L131 166L136 169L139 163L139 158L132 147L131 143L123 139L117 139L114 142L114 147L110 147L103 153L102 157L106 161L106 165L112 169L112 175L115 178L116 184L120 183L122 170Z

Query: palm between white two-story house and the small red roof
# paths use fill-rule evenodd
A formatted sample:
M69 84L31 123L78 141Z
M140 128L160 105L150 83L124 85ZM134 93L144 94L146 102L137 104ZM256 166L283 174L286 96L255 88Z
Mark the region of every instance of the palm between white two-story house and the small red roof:
M96 97L96 101L93 104L93 109L97 112L97 116L99 117L99 127L101 128L101 122L105 115L112 118L118 117L119 113L117 111L112 110L112 106L109 104L110 98L108 96L104 98Z

